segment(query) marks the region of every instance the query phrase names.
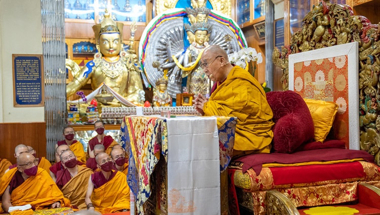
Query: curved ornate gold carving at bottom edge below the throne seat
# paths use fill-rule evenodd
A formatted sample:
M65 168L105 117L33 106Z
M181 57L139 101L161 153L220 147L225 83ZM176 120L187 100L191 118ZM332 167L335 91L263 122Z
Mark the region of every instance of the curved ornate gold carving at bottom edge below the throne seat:
M299 214L293 203L282 193L276 190L267 191L267 214Z

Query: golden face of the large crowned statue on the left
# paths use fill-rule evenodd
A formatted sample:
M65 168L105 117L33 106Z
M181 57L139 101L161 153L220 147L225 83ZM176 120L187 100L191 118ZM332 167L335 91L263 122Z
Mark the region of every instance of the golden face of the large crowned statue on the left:
M99 49L105 57L117 56L121 51L120 33L100 34Z

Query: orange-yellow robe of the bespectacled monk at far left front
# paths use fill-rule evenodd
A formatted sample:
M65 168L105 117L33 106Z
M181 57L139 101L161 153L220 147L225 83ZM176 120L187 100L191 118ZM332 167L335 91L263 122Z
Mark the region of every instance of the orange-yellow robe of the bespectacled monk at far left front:
M17 168L10 169L0 181L0 196L9 186ZM31 204L35 210L46 209L51 204L59 201L61 207L69 207L70 200L66 199L58 189L49 173L42 168L38 168L35 176L26 178L20 186L13 190L11 194L12 206ZM3 208L0 208L3 212Z

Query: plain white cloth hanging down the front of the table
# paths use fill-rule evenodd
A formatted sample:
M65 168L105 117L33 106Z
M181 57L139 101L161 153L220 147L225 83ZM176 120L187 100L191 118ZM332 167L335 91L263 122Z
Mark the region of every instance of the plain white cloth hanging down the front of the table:
M168 126L168 214L220 214L216 117L177 117Z

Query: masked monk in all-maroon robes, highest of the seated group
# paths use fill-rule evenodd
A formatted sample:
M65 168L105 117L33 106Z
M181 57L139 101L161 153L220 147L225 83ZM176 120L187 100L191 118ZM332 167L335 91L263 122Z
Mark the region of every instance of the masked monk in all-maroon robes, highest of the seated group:
M94 146L101 144L104 146L104 152L108 155L111 154L112 147L117 145L118 143L113 140L111 136L106 136L104 134L104 124L102 121L96 121L94 124L95 131L98 133L96 136L94 136L90 141L88 142L88 152L90 155L90 158L95 158L94 155Z

